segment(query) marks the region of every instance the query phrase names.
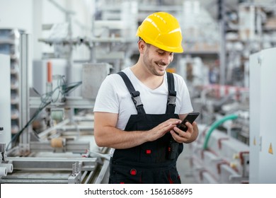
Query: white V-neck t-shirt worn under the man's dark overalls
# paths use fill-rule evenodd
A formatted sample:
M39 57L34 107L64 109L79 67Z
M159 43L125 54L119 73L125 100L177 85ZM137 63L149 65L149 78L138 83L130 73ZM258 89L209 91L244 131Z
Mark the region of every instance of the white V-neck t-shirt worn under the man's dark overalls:
M152 90L145 86L134 76L130 67L122 70L130 78L135 91L139 91L146 114L165 114L168 100L168 82L165 74L164 80L159 88ZM173 74L176 89L175 113L186 114L192 112L190 94L185 81L178 74ZM119 74L110 74L100 86L94 112L112 112L118 114L117 128L125 129L130 115L137 115L137 110L132 101L130 92Z

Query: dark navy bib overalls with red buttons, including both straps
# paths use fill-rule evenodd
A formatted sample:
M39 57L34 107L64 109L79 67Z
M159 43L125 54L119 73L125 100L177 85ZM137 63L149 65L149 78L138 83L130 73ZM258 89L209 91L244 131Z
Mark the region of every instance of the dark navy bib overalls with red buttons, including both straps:
M176 107L176 91L174 90L173 74L167 72L168 76L168 103L166 113L162 115L149 115L144 111L139 91L135 91L130 79L122 71L122 76L130 91L132 100L137 108L137 115L131 115L127 122L125 131L146 131L165 122L170 118L178 118L174 114ZM168 132L156 141L149 141L139 146L127 149L115 149L110 161L109 183L144 183L144 184L166 184L181 183L176 161L183 151L183 144L178 144L176 156L168 158L170 152L170 141L172 136Z

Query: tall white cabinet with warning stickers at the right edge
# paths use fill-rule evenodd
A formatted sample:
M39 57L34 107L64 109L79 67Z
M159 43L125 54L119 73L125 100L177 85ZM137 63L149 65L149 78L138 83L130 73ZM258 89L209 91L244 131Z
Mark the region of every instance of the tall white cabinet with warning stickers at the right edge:
M275 183L276 48L250 57L250 182Z

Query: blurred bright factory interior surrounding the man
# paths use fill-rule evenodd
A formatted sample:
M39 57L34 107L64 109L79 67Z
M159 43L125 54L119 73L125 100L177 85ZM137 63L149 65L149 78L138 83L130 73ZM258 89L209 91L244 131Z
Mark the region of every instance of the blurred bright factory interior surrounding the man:
M137 27L156 11L180 22L168 71L200 112L182 182L276 183L275 0L0 0L1 184L108 183L93 105L105 76L137 61Z

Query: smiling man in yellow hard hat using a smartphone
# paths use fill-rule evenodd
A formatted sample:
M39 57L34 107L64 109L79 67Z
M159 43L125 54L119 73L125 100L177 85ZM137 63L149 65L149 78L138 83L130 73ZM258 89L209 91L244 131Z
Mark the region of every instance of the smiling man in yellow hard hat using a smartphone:
M158 12L137 30L139 60L105 78L94 107L98 146L114 148L110 183L180 183L176 161L183 143L197 138L197 123L177 125L192 112L183 78L166 73L173 52L183 52L176 18Z

